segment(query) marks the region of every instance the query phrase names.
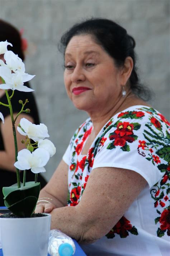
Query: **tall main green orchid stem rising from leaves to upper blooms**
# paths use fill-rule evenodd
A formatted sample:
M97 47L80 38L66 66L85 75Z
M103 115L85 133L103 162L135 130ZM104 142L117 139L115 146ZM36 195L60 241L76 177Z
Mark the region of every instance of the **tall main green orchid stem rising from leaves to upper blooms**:
M9 110L10 110L10 116L11 116L11 121L12 121L12 126L13 126L13 135L14 135L14 145L15 145L15 162L17 161L17 156L18 156L18 147L17 147L17 140L16 140L16 130L15 130L15 121L14 121L14 115L13 115L13 108L11 105L11 100L8 94L8 91L5 90L6 93L6 98L8 100L8 104L9 104ZM21 183L20 183L20 175L19 175L19 170L18 168L16 168L16 178L17 178L17 184L18 184L18 188L21 187Z

